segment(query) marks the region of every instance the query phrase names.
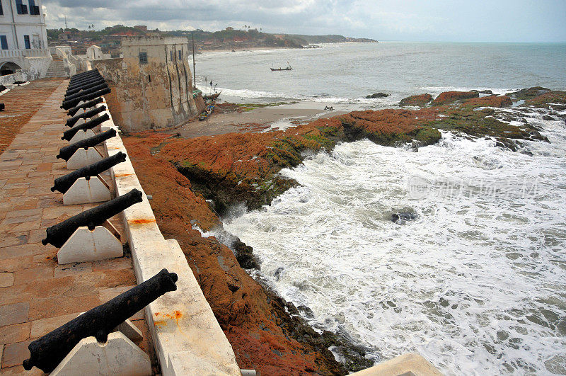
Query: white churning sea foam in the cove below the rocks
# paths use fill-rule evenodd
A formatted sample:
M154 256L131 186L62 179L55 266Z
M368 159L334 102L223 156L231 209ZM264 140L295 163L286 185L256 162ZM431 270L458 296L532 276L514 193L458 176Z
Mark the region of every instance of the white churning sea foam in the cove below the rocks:
M313 326L376 361L418 351L447 375L564 374L566 128L529 120L550 139L524 142L533 156L449 132L417 153L340 144L225 227ZM403 210L416 219L392 222Z

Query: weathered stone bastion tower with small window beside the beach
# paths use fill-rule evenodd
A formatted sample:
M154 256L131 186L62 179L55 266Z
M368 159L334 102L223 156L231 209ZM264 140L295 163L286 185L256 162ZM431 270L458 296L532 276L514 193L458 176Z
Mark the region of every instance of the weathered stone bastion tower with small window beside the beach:
M122 57L93 60L112 93L105 96L114 123L122 130L175 127L204 108L193 92L187 38L122 39Z

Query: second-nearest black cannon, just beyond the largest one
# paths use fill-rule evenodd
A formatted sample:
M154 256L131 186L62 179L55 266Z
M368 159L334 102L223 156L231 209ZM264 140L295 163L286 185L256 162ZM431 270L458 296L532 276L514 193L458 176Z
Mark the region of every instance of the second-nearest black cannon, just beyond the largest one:
M141 192L134 188L125 195L121 195L97 207L74 215L68 220L48 227L47 237L41 242L44 246L50 243L57 248L61 248L61 246L65 244L65 241L67 241L79 227L88 227L88 229L92 230L96 226L103 224L108 218L117 215L119 212L122 212L122 210L134 204L141 203L141 201Z

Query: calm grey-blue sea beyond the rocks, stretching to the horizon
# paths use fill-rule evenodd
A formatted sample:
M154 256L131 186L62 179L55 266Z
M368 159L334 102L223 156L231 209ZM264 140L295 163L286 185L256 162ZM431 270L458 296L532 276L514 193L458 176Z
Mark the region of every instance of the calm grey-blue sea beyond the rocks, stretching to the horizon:
M566 88L566 43L340 43L322 48L206 52L197 86L243 102L316 101L336 108L393 106L417 93ZM288 72L271 72L286 67ZM387 98L366 99L383 92ZM343 106L340 106L343 105Z

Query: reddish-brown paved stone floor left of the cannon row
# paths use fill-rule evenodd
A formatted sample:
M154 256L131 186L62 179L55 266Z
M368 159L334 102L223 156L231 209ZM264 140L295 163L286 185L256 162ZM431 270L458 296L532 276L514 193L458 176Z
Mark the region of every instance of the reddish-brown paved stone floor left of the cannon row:
M13 124L21 129L0 155L0 374L24 372L21 364L29 356L30 341L137 284L129 254L60 266L57 249L41 244L47 227L96 206L63 205L62 194L50 190L54 178L69 173L55 157L68 144L61 140L67 113L59 108L68 84L59 80L29 121ZM35 95L32 85L26 86L30 98ZM18 98L26 101L23 92ZM123 229L119 217L111 222ZM156 370L141 312L134 315L134 324L144 333L139 346Z

